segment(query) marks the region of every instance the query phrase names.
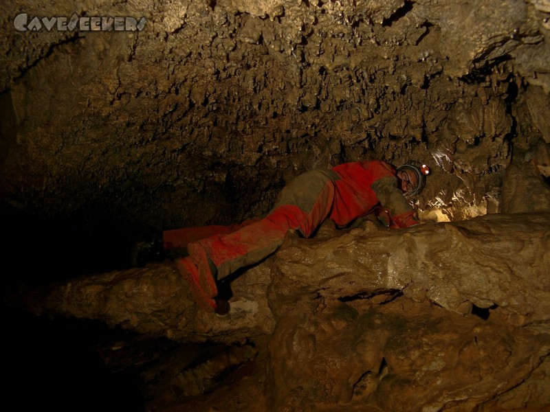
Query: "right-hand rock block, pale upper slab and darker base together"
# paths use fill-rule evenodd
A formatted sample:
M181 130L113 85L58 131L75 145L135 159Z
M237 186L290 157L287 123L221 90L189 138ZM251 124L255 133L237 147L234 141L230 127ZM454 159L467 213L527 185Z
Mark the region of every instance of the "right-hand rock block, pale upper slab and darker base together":
M281 316L270 342L275 410L524 407L524 395L494 398L547 356L549 224L548 214L495 214L289 244L270 296ZM287 299L296 290L309 299ZM547 396L533 393L527 403L542 410Z

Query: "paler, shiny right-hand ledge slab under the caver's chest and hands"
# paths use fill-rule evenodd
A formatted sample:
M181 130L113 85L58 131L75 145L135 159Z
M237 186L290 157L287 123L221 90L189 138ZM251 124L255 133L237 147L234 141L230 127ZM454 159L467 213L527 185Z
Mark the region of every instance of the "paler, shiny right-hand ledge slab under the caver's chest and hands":
M278 252L282 277L270 299L276 305L296 290L331 299L397 290L452 311L462 312L461 304L470 301L517 314L523 323L546 321L549 225L547 213L490 214L406 231L367 227L328 241L296 242Z

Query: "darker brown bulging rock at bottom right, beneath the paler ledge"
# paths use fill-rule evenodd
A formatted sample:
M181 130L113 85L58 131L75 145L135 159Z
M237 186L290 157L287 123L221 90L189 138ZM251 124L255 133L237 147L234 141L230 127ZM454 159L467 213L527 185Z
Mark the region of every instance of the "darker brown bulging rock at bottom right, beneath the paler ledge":
M279 319L270 342L272 410L472 411L525 380L549 344L549 334L406 298L383 306L319 299Z

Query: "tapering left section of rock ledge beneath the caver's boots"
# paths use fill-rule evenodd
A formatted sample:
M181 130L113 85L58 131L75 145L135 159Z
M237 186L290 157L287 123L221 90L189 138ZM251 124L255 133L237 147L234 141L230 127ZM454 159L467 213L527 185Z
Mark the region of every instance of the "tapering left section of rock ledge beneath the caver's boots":
M197 308L175 264L167 261L28 290L25 301L36 314L53 310L66 317L97 319L145 336L230 344L272 331L274 323L265 293L262 299L256 289L252 286L248 290L256 293L254 301L247 303L249 295L245 293L234 301L229 314L212 317Z

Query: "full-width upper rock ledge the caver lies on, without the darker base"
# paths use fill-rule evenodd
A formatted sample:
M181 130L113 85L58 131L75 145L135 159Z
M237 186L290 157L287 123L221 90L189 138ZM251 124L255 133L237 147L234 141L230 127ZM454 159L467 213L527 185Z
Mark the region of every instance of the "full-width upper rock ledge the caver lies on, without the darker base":
M308 240L289 236L276 258L232 282L232 310L225 317L197 313L187 285L168 262L74 279L31 291L27 299L37 313L100 319L175 340L223 341L233 334L239 341L243 337L236 336L254 328L270 333L271 311L276 319L281 305L303 296L336 301L387 292L455 312L463 312L465 302L498 308L529 324L550 316L544 271L549 228L547 213L491 214L405 230L380 229L369 221L365 229L330 238L324 237L328 229Z

